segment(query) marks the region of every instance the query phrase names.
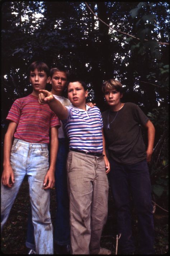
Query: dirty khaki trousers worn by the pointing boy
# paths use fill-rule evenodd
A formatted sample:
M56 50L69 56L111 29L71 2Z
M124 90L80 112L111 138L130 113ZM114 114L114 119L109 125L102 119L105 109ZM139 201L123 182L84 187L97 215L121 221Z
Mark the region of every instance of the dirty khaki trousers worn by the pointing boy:
M103 156L69 151L71 253L96 254L108 214L108 178Z

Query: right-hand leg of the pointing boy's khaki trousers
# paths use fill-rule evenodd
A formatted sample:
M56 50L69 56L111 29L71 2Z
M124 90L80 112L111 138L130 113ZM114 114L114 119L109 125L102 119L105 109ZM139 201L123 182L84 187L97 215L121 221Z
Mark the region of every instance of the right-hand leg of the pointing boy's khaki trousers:
M100 251L100 238L108 215L108 177L103 157L95 158L95 180L91 203L90 254Z

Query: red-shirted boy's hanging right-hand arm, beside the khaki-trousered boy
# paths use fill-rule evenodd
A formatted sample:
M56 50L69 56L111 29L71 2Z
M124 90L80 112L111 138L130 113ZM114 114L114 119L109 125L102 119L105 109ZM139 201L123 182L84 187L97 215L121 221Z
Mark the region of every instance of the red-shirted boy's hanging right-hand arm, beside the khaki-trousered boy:
M55 167L58 151L58 128L51 128L51 140L50 140L50 165L48 172L44 178L44 189L52 189L55 184Z

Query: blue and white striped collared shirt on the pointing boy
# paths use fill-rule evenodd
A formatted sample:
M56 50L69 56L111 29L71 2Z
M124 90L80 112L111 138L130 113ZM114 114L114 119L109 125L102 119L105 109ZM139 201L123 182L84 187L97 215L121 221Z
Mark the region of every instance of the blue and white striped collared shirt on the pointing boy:
M69 138L69 147L86 152L102 153L103 120L98 107L86 105L86 111L73 105L66 108L69 116L62 122Z

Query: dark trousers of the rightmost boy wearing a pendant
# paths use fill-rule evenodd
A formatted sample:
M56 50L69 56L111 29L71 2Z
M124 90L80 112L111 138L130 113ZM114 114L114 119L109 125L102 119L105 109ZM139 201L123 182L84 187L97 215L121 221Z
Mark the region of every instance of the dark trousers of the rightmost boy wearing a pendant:
M134 252L131 224L131 195L137 211L139 230L139 251L154 253L154 218L151 202L151 183L146 160L123 165L109 159L111 170L109 182L117 209L119 248L121 253Z

